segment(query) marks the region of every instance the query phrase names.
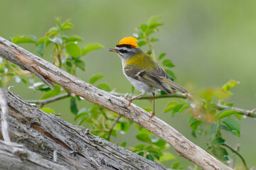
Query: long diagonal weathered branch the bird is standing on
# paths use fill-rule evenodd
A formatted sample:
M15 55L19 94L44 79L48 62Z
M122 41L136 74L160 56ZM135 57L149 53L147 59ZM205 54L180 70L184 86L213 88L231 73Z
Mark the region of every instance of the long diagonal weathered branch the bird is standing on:
M24 68L24 65L26 67L32 67L41 77L47 79L48 82L53 81L92 103L96 103L99 106L132 120L134 123L137 123L162 138L162 140L165 140L180 156L189 159L189 161L194 162L194 164L197 164L202 169L230 169L228 166L218 161L218 159L212 157L211 154L205 152L204 149L201 149L187 140L186 137L177 132L177 130L174 130L174 128L164 121L156 117L150 120L151 114L133 103L127 107L128 101L126 101L125 98L113 96L106 91L97 89L95 86L87 84L1 37L0 55L20 65L21 68Z

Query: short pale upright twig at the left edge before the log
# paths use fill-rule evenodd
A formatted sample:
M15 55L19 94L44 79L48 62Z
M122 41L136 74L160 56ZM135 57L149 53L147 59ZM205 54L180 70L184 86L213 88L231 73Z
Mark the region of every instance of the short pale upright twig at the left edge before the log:
M4 91L0 88L0 105L1 105L1 131L5 142L11 143L9 137L9 125L8 125L8 106Z

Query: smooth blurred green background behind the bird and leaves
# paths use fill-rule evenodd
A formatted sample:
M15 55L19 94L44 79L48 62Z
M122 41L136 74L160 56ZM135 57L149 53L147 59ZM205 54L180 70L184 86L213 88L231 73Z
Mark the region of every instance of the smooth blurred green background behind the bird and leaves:
M236 107L252 110L256 108L256 1L50 1L50 0L0 0L0 36L6 39L16 35L36 35L43 37L45 32L55 26L55 17L62 21L72 19L74 29L68 35L79 35L84 45L99 42L106 48L132 35L140 24L146 23L150 16L161 15L165 26L154 36L160 42L153 47L159 55L167 53L176 67L172 69L178 77L177 82L195 93L207 86L222 86L229 79L240 81L231 91L230 101ZM34 45L21 45L35 53ZM106 48L90 52L83 58L86 72L78 71L77 76L88 81L94 74L104 74L101 81L108 82L111 88L120 93L130 92L130 84L121 71L120 59ZM146 47L143 49L148 50ZM44 58L52 62L51 49ZM24 84L11 82L13 91L25 99L40 96ZM170 99L156 101L156 115L172 125L196 145L205 146L205 137L194 138L187 124L186 113L171 118L163 113ZM175 100L175 99L172 99ZM134 101L140 107L152 107L150 101ZM61 113L63 119L74 122L69 111L69 100L57 101L49 105ZM66 107L67 106L67 107ZM79 108L89 107L91 103L82 101ZM241 137L224 133L226 142L232 147L240 144L240 153L248 166L256 164L255 120L244 118L241 121ZM135 130L126 135L113 137L113 142L127 141L134 146ZM174 153L174 151L172 151ZM191 165L186 159L182 164ZM165 162L169 166L171 162Z

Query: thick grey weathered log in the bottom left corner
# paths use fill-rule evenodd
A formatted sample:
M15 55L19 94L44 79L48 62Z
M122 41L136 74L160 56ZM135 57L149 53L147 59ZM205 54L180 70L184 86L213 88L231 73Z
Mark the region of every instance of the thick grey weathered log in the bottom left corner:
M8 169L11 163L11 169L165 169L157 162L91 135L89 130L43 113L8 89L4 96L9 106L11 141L25 147L0 142L0 162L5 162L0 169ZM55 150L57 162L52 161Z

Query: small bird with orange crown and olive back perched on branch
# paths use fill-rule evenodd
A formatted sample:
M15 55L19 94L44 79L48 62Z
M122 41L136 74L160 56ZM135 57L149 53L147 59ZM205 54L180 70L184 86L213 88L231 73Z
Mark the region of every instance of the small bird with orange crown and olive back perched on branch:
M130 84L141 92L138 96L128 98L131 103L133 99L140 98L143 94L150 92L153 96L152 116L155 116L155 92L162 90L167 94L172 94L169 89L179 90L182 93L187 92L184 87L174 83L162 67L147 53L138 47L137 39L126 37L121 39L115 48L109 48L108 51L116 52L121 58L123 65L123 74L126 76ZM128 104L128 106L130 105Z

